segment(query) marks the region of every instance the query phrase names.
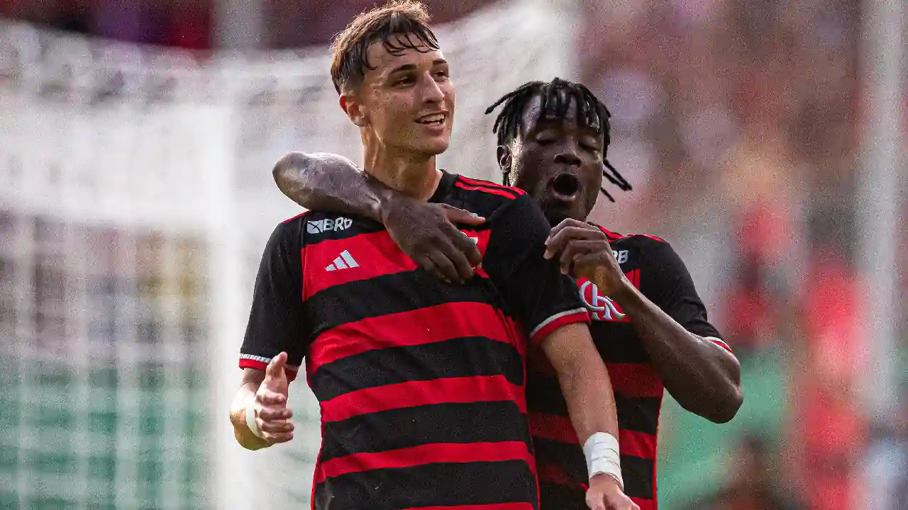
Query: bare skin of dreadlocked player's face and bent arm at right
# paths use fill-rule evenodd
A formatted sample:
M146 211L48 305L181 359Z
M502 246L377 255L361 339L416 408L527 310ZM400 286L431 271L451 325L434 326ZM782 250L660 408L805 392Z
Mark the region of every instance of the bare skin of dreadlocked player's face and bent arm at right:
M524 112L524 132L509 147L498 148L502 168L517 173L515 184L542 206L556 226L546 257L558 257L562 270L586 277L634 318L632 327L652 359L666 390L677 402L715 423L735 417L743 403L741 367L730 352L695 335L646 298L624 274L606 235L586 222L596 205L605 165L605 141L589 127L577 126L576 105L568 120L540 118L538 97ZM577 191L558 192L561 174L577 179Z

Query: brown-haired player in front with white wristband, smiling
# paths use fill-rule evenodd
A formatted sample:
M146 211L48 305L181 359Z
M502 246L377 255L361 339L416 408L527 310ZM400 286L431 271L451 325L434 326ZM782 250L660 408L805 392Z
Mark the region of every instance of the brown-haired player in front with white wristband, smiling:
M574 282L543 258L542 211L523 191L435 167L454 89L423 7L398 1L354 19L335 41L331 78L371 179L488 218L458 231L482 267L449 284L380 222L325 211L282 222L242 345L237 440L291 440L288 387L305 360L321 407L314 508L538 508L525 389L525 354L537 348L588 445L589 505L637 508L621 489L605 364Z

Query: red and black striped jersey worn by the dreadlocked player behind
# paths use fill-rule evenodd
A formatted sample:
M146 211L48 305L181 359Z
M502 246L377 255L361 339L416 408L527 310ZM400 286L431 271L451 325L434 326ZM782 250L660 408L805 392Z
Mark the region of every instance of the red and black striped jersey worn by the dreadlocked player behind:
M637 289L685 329L728 348L706 318L684 262L651 235L606 233L615 258ZM633 318L597 286L577 281L591 319L593 341L615 390L618 444L625 494L641 510L656 509L656 432L663 386L631 326ZM730 349L729 349L730 350ZM588 475L568 408L548 360L531 351L527 387L530 429L536 448L542 510L584 510Z

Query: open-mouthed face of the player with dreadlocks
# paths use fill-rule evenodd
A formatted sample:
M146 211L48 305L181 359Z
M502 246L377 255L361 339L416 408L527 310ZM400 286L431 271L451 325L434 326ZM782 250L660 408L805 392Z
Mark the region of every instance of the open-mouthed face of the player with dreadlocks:
M552 225L566 218L586 221L602 187L604 135L577 125L573 100L558 119L547 119L541 104L538 95L529 101L523 129L509 147L498 148L498 162L510 165L514 185L537 201Z

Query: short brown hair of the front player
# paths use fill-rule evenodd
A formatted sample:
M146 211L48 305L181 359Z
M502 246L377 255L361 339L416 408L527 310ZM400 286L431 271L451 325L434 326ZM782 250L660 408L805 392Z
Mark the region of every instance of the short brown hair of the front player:
M429 28L429 13L416 0L392 0L387 5L362 13L334 37L331 44L331 82L341 93L362 83L369 64L367 51L381 41L390 54L412 49L422 53L439 49ZM424 49L428 48L428 49Z

